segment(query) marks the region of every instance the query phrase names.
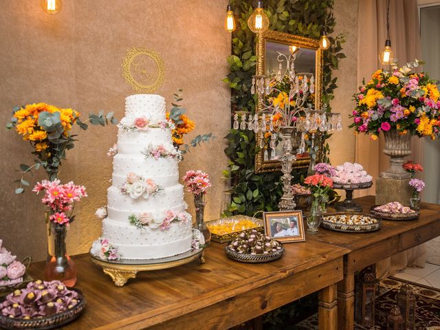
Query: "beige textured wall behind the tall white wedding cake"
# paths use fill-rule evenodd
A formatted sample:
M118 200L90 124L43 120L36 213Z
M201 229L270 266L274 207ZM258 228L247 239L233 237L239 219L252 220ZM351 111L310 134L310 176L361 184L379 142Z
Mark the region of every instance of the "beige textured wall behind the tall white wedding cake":
M144 46L161 54L164 85L157 91L168 101L184 89L184 106L196 122L197 133L212 131L217 140L194 149L180 164L206 170L214 188L208 194L206 217L219 217L223 206L221 170L227 160L223 137L230 126L230 90L221 79L228 73L230 34L223 29L227 0L75 0L63 10L45 14L39 1L1 1L0 15L0 159L2 175L0 237L19 256L45 257L43 206L32 192L13 193L20 163L32 162L31 148L3 129L17 104L49 102L89 111L124 112L124 98L133 94L122 78L126 51ZM195 136L190 135L190 137ZM87 186L89 197L78 208L68 249L86 252L100 235L96 208L104 206L112 164L106 153L116 140L116 128L91 127L80 131L80 141L61 167L63 181ZM41 173L37 179L41 179ZM192 208L192 201L186 196Z

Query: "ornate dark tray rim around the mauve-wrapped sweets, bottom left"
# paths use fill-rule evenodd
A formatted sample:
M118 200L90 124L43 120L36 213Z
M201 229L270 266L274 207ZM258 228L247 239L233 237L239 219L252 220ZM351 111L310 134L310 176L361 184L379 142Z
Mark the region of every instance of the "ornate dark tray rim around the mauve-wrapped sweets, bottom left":
M67 323L72 322L83 312L86 300L82 292L74 287L69 287L69 290L75 291L78 294L78 304L74 307L62 311L60 313L53 314L51 316L42 316L39 318L10 318L0 314L0 328L1 329L55 329ZM0 302L3 302L1 300Z

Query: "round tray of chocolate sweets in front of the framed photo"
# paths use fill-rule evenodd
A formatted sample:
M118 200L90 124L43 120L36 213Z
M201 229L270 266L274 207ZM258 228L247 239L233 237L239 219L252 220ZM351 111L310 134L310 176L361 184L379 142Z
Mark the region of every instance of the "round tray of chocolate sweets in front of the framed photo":
M241 263L268 263L283 256L283 244L256 230L242 232L225 247L229 259Z

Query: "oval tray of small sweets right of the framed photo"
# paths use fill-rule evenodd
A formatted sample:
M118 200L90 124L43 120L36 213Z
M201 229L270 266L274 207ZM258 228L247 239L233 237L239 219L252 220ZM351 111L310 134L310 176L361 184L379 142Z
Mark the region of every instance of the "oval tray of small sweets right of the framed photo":
M381 225L381 219L357 212L327 213L321 220L322 228L336 232L375 232Z

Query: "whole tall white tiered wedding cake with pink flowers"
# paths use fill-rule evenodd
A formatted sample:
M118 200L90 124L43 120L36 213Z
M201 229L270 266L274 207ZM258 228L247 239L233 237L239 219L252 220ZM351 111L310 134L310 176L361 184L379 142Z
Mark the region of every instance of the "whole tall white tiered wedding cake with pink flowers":
M179 184L180 151L165 99L137 94L126 98L111 148L113 176L107 210L97 211L102 236L91 253L100 259L161 259L191 250L192 222Z

